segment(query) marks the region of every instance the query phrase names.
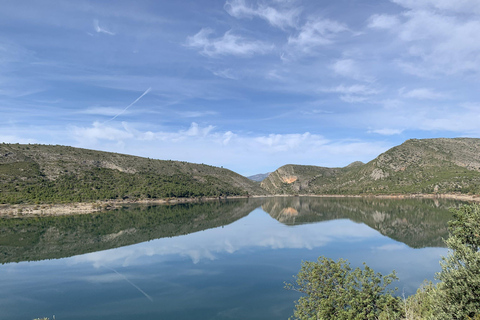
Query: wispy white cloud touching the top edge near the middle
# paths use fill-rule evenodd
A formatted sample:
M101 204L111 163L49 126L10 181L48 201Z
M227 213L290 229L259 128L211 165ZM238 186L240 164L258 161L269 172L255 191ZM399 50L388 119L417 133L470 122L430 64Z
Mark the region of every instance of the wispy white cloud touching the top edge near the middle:
M284 29L295 27L301 13L300 8L276 9L266 4L259 4L256 7L249 6L245 0L230 0L225 3L225 10L235 18L258 17L266 20L272 26Z

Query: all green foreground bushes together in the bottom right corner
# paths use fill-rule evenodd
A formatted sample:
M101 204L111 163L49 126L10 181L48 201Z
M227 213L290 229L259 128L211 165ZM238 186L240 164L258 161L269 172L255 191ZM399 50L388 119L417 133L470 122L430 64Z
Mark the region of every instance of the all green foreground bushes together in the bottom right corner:
M395 273L382 276L364 266L352 270L344 261L320 257L304 262L296 285L302 296L295 319L480 319L480 205L454 210L450 237L451 253L443 258L439 283L424 283L415 295L393 296L387 286Z

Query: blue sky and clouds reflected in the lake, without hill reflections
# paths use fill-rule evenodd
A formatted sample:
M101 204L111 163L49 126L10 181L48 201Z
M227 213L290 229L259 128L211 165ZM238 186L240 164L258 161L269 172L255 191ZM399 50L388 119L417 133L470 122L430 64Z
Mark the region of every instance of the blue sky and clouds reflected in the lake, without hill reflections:
M397 270L413 293L446 249L411 249L364 224L285 226L260 209L230 225L72 258L0 267L8 319L286 319L283 289L302 260L325 255Z

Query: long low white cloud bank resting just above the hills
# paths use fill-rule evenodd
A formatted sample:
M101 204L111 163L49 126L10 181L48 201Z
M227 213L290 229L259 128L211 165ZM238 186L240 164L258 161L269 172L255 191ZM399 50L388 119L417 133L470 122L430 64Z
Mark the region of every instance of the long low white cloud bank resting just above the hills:
M245 174L272 171L286 163L343 166L369 161L386 150L382 143L331 141L308 132L250 135L197 123L177 131L151 131L126 122L95 122L71 127L69 134L84 148L207 163ZM255 171L249 172L252 164Z

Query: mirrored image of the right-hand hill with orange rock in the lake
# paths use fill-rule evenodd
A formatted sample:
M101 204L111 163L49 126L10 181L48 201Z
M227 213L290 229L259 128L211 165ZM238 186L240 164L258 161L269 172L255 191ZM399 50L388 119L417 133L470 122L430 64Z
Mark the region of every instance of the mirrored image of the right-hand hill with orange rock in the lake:
M262 209L285 225L336 219L364 223L412 248L445 247L451 207L460 202L443 199L270 198Z

